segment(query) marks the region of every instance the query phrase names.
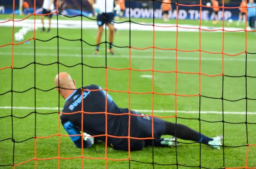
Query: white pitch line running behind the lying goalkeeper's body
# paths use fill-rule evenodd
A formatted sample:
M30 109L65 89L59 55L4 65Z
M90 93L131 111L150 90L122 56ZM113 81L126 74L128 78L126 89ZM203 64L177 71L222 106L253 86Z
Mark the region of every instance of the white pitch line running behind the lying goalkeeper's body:
M31 109L34 110L35 107L11 107L11 106L0 106L0 109ZM37 107L37 110L58 110L58 107ZM60 108L62 109L62 108ZM135 112L150 113L152 110L137 110ZM175 113L175 110L154 110L155 113ZM199 111L183 111L177 110L177 113L186 113L186 114L199 114ZM221 114L222 112L217 111L201 111L201 114ZM245 112L224 112L225 115L245 115ZM256 112L247 112L247 115L256 115Z

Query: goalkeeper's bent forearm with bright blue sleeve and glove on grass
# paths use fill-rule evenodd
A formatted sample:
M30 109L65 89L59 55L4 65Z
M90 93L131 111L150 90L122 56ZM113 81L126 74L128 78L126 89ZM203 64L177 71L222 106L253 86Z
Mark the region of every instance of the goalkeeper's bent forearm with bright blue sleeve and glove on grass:
M63 124L64 129L67 131L68 135L81 135L80 131L70 122ZM70 136L71 140L74 142L77 148L82 148L82 139L81 136ZM93 137L87 137L83 139L83 148L90 148L94 143Z

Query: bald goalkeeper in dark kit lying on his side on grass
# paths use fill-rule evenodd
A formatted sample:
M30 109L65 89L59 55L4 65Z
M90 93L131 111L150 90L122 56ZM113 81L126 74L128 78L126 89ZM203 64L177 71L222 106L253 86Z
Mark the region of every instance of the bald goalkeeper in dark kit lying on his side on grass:
M107 115L108 125L107 134L111 136L128 136L129 130L129 115L120 115L122 113L128 113L129 109L119 108L113 101L110 95L106 95L106 92L97 85L84 86L83 89L94 91L82 91L76 89L75 81L72 80L70 75L66 72L61 72L55 77L55 86L60 95L66 100L64 109L62 112L70 113L61 114L61 123L68 135L81 135L81 111L83 95L83 111L91 112L90 114L83 114L83 131L89 135L105 135L106 133L106 103L107 112L116 115ZM106 102L107 97L107 102ZM78 112L71 114L73 112ZM93 112L102 112L101 114L92 114ZM130 119L130 136L139 138L152 137L152 118L148 116L134 116L143 115L134 111L131 112ZM176 130L176 133L175 133ZM223 137L207 137L199 132L190 129L182 124L175 124L168 121L164 121L160 118L154 117L154 146L177 146L177 138L183 140L192 140L195 142L201 142L212 146L213 148L220 149ZM172 135L171 138L161 138L162 135ZM116 150L128 151L128 138L115 138L108 136L107 143L109 146ZM82 147L82 139L80 136L70 136L71 140L75 143L76 147ZM83 148L89 148L94 143L94 137L87 137L83 139ZM96 140L106 141L105 136L96 137ZM130 139L130 150L142 150L144 146L151 146L152 140L137 140Z

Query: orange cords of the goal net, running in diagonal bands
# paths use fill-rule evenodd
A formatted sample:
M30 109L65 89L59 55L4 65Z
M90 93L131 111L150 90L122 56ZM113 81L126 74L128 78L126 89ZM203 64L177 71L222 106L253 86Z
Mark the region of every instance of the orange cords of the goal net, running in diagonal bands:
M138 139L138 140L153 140L154 139L154 117L160 117L160 118L177 118L177 96L182 96L182 97L201 97L201 75L204 75L204 76L209 76L209 77L215 77L215 76L224 76L224 55L228 55L228 56L237 56L239 54L247 54L247 32L250 32L246 29L241 29L241 30L236 30L236 31L228 31L228 30L225 30L224 29L224 19L222 20L222 29L215 29L215 30L207 30L207 29L202 29L201 28L201 12L202 12L202 7L207 7L207 8L212 8L212 7L209 7L209 6L204 6L200 0L200 4L197 4L197 5L185 5L185 4L179 4L179 3L175 3L176 5L176 10L177 10L177 19L176 19L176 26L157 26L155 24L152 24L153 26L153 37L152 37L152 46L149 46L149 47L146 47L146 48L143 48L143 49L140 49L140 48L136 48L134 46L129 46L129 67L128 68L124 68L124 69L115 69L115 68L111 68L111 67L106 67L105 66L105 89L99 89L99 90L104 90L106 92L106 95L107 95L107 92L125 92L125 93L128 93L128 109L129 109L129 112L128 113L122 113L122 114L118 114L118 115L129 115L129 123L128 123L128 136L124 136L124 137L118 137L118 136L114 136L114 135L108 135L108 132L107 132L107 129L108 129L108 120L107 120L107 115L117 115L117 114L113 114L111 112L107 112L107 97L106 97L106 108L105 108L105 112L97 112L97 113L92 113L92 112L84 112L84 109L83 109L83 101L81 102L82 104L82 109L81 111L79 112L73 112L73 113L65 113L65 112L58 112L58 134L55 134L55 135L50 135L50 136L46 136L46 137L35 137L35 158L32 158L30 160L26 160L22 163L17 163L17 164L12 164L13 166L13 169L15 169L15 166L19 166L19 165L22 165L23 163L27 163L29 161L32 161L34 160L35 161L35 169L37 168L37 161L38 160L52 160L52 159L58 159L58 169L60 168L60 160L63 159L63 160L66 160L66 159L75 159L75 158L81 158L82 160L82 165L81 165L81 168L83 169L84 168L84 159L102 159L102 160L105 160L105 168L107 169L107 166L108 166L108 160L114 160L114 161L122 161L122 160L131 160L131 151L130 151L130 139ZM179 26L178 25L178 9L179 9L179 6L199 6L200 7L200 20L199 20L199 27L198 28L188 28L188 27L182 27L182 26ZM221 8L223 11L223 16L224 16L224 9L238 9L239 7L224 7L224 0L222 2L222 6L220 6L219 8ZM36 3L34 1L34 11L36 9ZM12 19L11 20L6 20L5 22L13 22L13 26L12 26L12 43L8 43L8 44L5 44L5 45L2 45L0 47L3 47L3 46L7 46L7 45L12 45L12 62L11 62L11 66L6 66L6 67L3 67L3 68L0 68L1 69L13 69L13 53L14 53L14 46L15 45L19 45L19 44L22 44L22 43L25 43L29 40L35 40L36 39L36 33L35 33L35 24L34 24L34 37L33 38L30 38L28 40L25 40L21 43L14 43L14 29L15 29L15 22L19 22L19 21L22 21L22 20L25 20L26 18L34 15L34 21L36 19L36 16L41 16L41 15L48 15L48 14L29 14L27 17L25 17L24 19L22 20L15 20L15 0L13 0L13 14L12 14ZM58 0L57 0L57 11L56 12L52 12L50 14L58 14ZM247 14L246 14L247 15ZM1 22L1 23L5 23L5 22ZM247 22L247 21L245 21ZM131 22L130 22L131 24ZM247 25L247 23L245 23L245 25ZM163 48L160 48L160 47L157 47L155 46L155 27L176 27L177 28L177 31L176 31L176 47L175 49L163 49ZM199 30L199 49L197 50L180 50L178 49L178 28L184 28L184 29L198 29ZM208 51L204 51L201 49L201 31L208 31L208 32L213 32L213 31L222 31L223 35L222 35L222 51L221 52L208 52ZM241 31L244 31L245 32L245 52L240 52L240 53L237 53L237 54L227 54L227 53L224 53L224 32L241 32ZM149 48L152 48L153 49L153 53L152 53L152 58L153 58L153 62L152 62L152 69L146 69L146 70L138 70L138 69L133 69L131 68L131 49L137 49L137 50L145 50L145 49L149 49ZM159 70L154 70L154 57L155 57L155 49L160 49L160 50L173 50L173 51L176 51L176 58L175 58L175 70L174 71L159 71ZM178 64L177 64L177 52L199 52L199 69L198 69L198 72L180 72L178 71ZM201 53L204 52L204 53L210 53L210 54L222 54L222 74L205 74L205 73L202 73L201 72ZM34 63L35 64L35 63ZM129 70L129 86L128 86L128 91L115 91L115 90L110 90L107 88L107 72L108 72L108 69L111 69L111 70L116 70L116 71L121 71L121 70ZM130 83L131 83L131 71L148 71L148 72L152 72L152 92L131 92L130 91ZM175 73L175 93L158 93L158 92L154 92L154 72L161 72L161 73ZM180 95L180 94L177 94L177 76L179 73L182 73L182 74L198 74L199 76L199 91L198 91L198 95ZM85 89L81 89L82 91L82 95L81 97L83 96L83 92L84 91L97 91L97 90L85 90ZM134 115L134 114L131 114L130 112L130 95L131 94L152 94L152 112L151 112L151 115ZM166 117L162 117L162 116L156 116L154 115L154 95L174 95L175 96L175 116L166 116ZM83 97L82 97L82 100L83 100ZM79 157L72 157L72 158L61 158L60 156L60 149L61 149L61 137L70 137L70 136L81 136L81 139L83 140L83 132L81 133L81 135L61 135L60 133L60 128L61 128L61 122L60 122L60 115L61 114L68 114L68 115L71 115L71 114L75 114L75 113L81 113L81 117L82 117L82 120L81 120L81 131L83 131L83 117L84 117L84 114L105 114L105 118L106 118L106 123L105 123L105 128L106 128L106 132L105 134L103 135L93 135L93 136L90 136L90 137L100 137L100 136L104 136L106 137L106 141L105 141L105 157L104 158L90 158L90 157L85 157L84 156L84 149L81 149L81 156ZM137 138L137 137L131 137L131 134L130 134L130 127L131 127L131 115L134 115L134 116L149 116L149 117L152 117L152 136L151 137L146 137L146 138ZM43 139L43 138L49 138L49 137L55 137L55 136L58 136L58 157L54 157L54 158L37 158L37 139ZM108 137L116 137L116 138L127 138L128 139L128 158L126 159L111 159L111 158L108 158L108 154L107 154L107 147L108 147ZM83 141L81 142L82 143L82 147L83 147ZM256 145L249 145L247 144L247 153L246 153L246 163L245 163L245 166L241 166L241 167L234 167L234 168L226 168L226 169L256 169L256 167L248 167L247 166L247 161L248 161L248 152L249 152L249 147L250 146L256 146ZM224 148L225 146L223 146ZM224 150L223 150L224 151ZM178 164L177 164L178 165ZM223 168L225 168L225 166L223 166Z

